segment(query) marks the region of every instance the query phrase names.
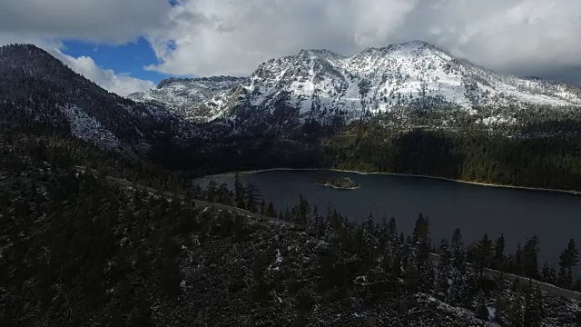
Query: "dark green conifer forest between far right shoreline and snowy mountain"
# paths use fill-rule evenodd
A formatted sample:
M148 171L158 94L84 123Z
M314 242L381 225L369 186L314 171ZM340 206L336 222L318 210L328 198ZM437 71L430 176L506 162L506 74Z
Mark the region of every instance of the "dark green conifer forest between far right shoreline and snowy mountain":
M325 166L463 181L581 189L581 139L507 136L481 129L397 131L377 122L323 142Z

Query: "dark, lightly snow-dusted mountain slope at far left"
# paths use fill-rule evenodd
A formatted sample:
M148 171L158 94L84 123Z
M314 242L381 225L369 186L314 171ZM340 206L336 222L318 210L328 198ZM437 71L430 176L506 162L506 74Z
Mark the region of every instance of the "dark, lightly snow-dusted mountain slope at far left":
M35 45L0 47L0 74L0 123L6 126L46 124L128 153L147 151L160 138L180 138L178 131L187 129L164 108L108 92Z

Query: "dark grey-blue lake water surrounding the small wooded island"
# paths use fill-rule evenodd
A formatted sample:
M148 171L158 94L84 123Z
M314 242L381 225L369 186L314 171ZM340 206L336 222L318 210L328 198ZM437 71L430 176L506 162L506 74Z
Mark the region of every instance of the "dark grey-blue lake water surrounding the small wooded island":
M337 190L315 183L332 175L348 176L360 184L356 190ZM202 187L210 180L233 184L233 175L196 180ZM399 231L411 233L419 213L431 220L433 243L451 238L460 228L465 242L488 233L505 234L507 251L537 234L541 260L556 263L571 238L581 247L581 197L566 193L537 192L456 183L422 177L359 174L333 171L269 171L241 174L241 183L253 183L278 210L298 203L299 194L316 203L320 213L330 205L351 221L361 222L369 213L376 221L395 217Z

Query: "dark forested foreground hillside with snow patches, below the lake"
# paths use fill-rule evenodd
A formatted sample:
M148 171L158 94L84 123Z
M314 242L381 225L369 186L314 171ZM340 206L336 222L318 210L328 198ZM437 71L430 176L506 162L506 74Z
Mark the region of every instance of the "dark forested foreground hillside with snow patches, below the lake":
M490 280L473 261L489 243L465 248L457 231L436 246L421 215L406 236L395 220L355 225L299 197L278 214L289 223L257 220L109 183L67 167L103 164L100 150L27 135L0 142L3 325L576 323L576 302ZM276 210L235 186L199 196Z

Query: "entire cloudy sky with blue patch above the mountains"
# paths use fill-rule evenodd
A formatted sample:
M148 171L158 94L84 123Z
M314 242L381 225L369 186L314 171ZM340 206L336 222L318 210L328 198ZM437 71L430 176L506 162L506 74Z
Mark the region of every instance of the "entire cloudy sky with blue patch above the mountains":
M117 94L245 75L303 48L424 40L501 73L581 84L580 0L2 0L0 45L33 43Z

